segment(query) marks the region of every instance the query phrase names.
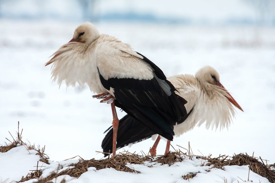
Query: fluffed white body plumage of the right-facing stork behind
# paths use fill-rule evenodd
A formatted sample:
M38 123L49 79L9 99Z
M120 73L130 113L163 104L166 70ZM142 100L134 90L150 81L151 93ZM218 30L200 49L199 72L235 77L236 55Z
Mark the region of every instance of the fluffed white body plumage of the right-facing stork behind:
M188 101L184 105L187 113L193 108L192 113L183 123L174 126L176 137L202 124L205 124L207 129L210 127L212 129L228 128L235 115L235 109L225 97L229 97L227 91L217 85L205 82L205 76L196 76L175 75L168 78L179 91L179 95ZM156 137L154 135L153 140Z

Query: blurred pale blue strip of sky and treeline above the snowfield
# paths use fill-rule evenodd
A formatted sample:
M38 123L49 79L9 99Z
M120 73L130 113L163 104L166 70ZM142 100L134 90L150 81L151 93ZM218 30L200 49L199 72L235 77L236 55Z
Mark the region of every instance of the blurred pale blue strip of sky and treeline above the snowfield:
M1 0L0 17L185 25L275 25L273 0Z

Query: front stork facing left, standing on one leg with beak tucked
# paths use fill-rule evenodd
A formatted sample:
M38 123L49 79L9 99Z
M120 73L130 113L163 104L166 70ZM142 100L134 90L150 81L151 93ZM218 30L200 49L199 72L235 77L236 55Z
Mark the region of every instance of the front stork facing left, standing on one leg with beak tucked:
M118 118L115 106L162 137L173 140L174 125L186 113L184 100L162 70L113 36L100 34L90 22L76 28L71 41L52 54L52 78L59 86L87 84L90 90L111 103L113 155Z

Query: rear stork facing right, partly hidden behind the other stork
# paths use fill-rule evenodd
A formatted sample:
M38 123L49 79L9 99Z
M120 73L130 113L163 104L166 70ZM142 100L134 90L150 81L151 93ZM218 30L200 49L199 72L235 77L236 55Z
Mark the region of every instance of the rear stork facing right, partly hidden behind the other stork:
M201 68L195 77L193 75L175 75L168 78L168 80L175 86L179 94L184 96L188 101L185 104L188 114L174 126L176 137L203 123L206 124L207 129L210 127L212 129L228 128L235 114L232 104L243 111L220 83L218 72L210 66ZM102 141L103 152L108 152L112 148L112 144L110 143L111 133L112 129ZM155 132L146 128L136 119L126 115L120 119L117 134L117 149L153 137L155 134ZM159 141L160 135L150 149L152 156L156 154L156 147ZM169 147L170 141L168 140L165 154L169 152Z

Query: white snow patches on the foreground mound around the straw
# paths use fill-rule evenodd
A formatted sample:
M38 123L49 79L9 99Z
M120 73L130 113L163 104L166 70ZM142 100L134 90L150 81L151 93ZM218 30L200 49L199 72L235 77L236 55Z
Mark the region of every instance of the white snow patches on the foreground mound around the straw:
M26 176L28 170L35 170L36 163L39 160L38 155L34 155L35 150L28 153L24 146L18 146L12 148L8 152L0 153L0 181L15 182L21 179L21 176ZM38 166L42 166L39 169L42 170L41 178L49 176L52 172L59 173L72 166L68 166L72 163L76 163L77 160L66 160L53 162L50 161L50 165L42 164L39 161ZM2 164L3 163L3 164ZM182 162L176 162L171 166L167 164L161 165L160 163L146 162L141 165L128 164L128 166L140 173L129 173L116 171L113 168L106 168L96 170L95 167L88 168L88 171L83 173L79 178L71 177L68 175L60 176L52 180L53 182L61 182L65 179L66 182L86 183L86 182L223 182L226 180L228 183L237 183L241 180L247 180L251 182L268 183L269 181L259 176L258 174L249 171L248 166L224 166L223 169L212 168L211 166L205 166L206 160L201 160L193 157L192 160L185 156ZM42 165L41 165L42 164ZM35 165L33 167L33 165ZM204 166L202 166L204 165ZM197 175L191 179L184 180L182 176L189 173L197 173ZM248 178L249 173L249 178ZM123 177L123 178L122 178ZM25 181L26 183L35 182L37 179Z

